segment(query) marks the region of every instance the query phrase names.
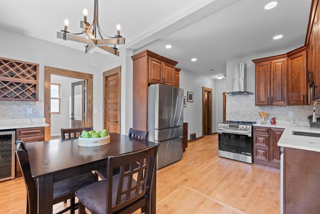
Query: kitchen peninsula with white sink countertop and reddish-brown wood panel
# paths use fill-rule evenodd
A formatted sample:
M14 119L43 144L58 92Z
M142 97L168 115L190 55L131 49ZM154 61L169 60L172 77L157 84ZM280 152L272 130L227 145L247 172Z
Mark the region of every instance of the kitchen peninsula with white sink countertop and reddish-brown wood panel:
M320 137L293 135L318 133L307 121L280 121L257 126L284 128L281 146L281 213L318 213L320 210ZM300 132L300 133L299 133Z

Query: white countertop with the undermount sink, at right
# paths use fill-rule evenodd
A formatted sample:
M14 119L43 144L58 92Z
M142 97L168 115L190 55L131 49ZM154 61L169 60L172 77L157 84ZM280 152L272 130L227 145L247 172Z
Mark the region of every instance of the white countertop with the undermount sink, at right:
M320 128L310 127L308 121L279 120L279 122L276 121L275 124L255 123L253 126L284 128L284 131L277 143L278 146L320 152L319 137L292 134L292 131L320 133Z

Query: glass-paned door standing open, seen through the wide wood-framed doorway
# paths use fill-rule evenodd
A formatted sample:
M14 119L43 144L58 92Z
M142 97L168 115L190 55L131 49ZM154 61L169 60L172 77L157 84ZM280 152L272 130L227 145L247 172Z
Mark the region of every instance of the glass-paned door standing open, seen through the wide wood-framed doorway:
M71 83L71 128L85 126L85 80Z

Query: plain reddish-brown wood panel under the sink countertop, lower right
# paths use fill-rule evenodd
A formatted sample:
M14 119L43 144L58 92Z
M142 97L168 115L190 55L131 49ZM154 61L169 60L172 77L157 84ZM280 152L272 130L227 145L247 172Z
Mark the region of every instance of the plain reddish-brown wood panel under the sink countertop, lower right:
M319 213L320 152L283 148L283 213Z

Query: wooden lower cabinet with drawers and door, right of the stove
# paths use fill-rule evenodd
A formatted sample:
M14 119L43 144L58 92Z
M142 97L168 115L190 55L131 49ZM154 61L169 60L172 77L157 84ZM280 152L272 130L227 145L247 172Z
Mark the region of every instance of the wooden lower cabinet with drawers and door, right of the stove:
M280 146L277 142L283 128L253 127L254 163L280 168Z

